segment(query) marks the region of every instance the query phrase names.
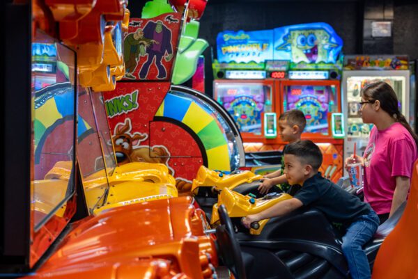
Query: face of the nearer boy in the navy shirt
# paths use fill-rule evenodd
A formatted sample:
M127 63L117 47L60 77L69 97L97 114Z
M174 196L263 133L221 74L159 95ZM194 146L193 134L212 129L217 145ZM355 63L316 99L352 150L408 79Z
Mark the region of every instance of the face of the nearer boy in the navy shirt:
M284 174L288 184L302 185L305 177L310 173L310 166L304 164L300 158L293 154L284 154Z

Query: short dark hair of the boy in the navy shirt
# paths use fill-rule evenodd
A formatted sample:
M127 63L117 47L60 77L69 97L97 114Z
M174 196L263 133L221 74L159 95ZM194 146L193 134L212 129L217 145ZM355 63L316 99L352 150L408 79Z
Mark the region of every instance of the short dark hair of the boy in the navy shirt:
M286 145L283 153L295 155L303 164L311 165L314 170L318 170L323 160L322 152L320 152L318 145L309 140L289 143Z

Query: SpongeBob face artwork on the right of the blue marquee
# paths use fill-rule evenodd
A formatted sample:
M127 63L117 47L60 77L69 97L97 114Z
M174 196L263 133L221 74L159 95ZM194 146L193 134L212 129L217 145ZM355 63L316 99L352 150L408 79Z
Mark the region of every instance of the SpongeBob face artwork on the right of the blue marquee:
M294 63L330 63L334 62L334 56L339 52L337 49L341 48L334 40L336 34L329 33L325 28L289 29L276 51L291 52L290 58Z

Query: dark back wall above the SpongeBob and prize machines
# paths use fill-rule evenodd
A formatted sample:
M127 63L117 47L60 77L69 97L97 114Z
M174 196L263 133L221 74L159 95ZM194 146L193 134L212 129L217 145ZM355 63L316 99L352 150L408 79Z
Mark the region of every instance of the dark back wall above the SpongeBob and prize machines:
M364 43L365 9L382 15L380 20L389 15L393 22L390 40L371 39L373 47ZM199 38L210 44L203 53L208 95L212 95L216 37L224 30L252 31L326 22L343 39L344 54L408 54L411 59L418 58L418 0L209 0L200 22Z

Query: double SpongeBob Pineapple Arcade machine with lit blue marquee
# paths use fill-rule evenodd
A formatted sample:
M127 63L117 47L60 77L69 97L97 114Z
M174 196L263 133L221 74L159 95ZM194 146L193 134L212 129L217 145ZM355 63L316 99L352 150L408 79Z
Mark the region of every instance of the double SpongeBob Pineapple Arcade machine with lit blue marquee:
M341 49L341 38L325 23L219 33L214 98L240 127L245 152L270 151L277 164L277 150L286 143L277 136L275 120L284 111L300 109L307 118L302 138L318 143L324 155L321 171L339 180L344 136Z

